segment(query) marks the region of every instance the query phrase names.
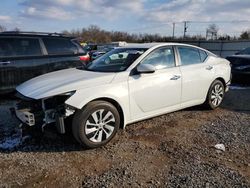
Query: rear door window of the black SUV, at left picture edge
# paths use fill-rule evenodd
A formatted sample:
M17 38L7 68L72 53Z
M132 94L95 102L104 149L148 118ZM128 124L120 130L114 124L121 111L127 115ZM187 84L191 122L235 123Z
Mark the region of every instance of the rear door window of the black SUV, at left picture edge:
M0 57L42 55L40 43L35 38L0 38Z

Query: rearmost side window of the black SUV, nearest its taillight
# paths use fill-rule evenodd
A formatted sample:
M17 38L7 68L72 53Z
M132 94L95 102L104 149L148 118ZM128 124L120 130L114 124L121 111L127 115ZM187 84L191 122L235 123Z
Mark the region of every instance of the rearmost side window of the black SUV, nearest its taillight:
M49 55L55 54L77 54L78 50L69 39L43 38Z

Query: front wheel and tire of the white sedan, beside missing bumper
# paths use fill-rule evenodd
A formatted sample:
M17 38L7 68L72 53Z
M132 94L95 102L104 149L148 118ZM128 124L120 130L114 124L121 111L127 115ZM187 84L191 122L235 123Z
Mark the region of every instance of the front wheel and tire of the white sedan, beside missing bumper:
M119 112L111 103L93 101L75 113L72 132L85 148L97 148L107 144L115 136L119 126Z

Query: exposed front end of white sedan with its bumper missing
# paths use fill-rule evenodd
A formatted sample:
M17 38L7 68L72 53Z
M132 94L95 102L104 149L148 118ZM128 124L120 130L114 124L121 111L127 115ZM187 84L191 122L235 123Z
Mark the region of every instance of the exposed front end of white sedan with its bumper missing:
M20 94L19 94L20 96ZM10 109L18 120L27 126L40 126L55 123L59 133L65 133L64 119L74 114L72 107L65 105L69 95L59 95L46 99L29 99L22 96L15 108Z

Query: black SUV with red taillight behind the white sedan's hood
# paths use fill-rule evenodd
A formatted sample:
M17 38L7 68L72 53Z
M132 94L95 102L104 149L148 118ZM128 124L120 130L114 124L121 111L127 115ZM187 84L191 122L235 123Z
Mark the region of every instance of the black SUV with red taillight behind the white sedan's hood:
M74 38L57 33L0 33L0 94L38 75L82 66L86 52Z

